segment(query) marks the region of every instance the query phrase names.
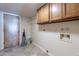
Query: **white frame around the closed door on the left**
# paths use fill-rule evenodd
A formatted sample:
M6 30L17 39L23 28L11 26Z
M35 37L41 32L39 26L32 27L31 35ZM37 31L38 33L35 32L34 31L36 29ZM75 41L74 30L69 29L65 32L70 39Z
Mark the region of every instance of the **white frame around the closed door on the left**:
M19 15L16 15L16 14L12 14L12 13L7 13L7 12L3 12L3 49L5 49L4 47L4 41L5 41L5 31L4 31L4 28L5 28L5 23L4 23L4 14L7 14L7 15L13 15L13 16L16 16L18 18L18 45L20 45L20 16Z

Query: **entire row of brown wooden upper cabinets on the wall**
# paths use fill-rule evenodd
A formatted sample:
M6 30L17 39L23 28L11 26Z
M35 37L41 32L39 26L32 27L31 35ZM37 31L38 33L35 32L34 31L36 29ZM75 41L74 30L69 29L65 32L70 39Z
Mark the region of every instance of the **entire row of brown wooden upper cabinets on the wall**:
M79 3L49 3L37 10L39 24L79 20Z

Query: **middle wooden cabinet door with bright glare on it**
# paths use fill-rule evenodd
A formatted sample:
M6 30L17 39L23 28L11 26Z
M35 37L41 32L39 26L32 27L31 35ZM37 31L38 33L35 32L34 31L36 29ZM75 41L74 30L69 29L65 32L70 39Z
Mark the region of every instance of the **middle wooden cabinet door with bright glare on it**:
M63 17L63 4L52 3L50 5L50 19L51 21L59 20Z

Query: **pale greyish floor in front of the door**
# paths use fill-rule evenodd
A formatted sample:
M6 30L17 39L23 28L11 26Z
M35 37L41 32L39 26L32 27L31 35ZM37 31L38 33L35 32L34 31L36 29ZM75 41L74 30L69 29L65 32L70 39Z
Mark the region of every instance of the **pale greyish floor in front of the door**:
M28 46L17 46L12 48L7 48L0 51L0 56L48 56L38 47L33 44Z

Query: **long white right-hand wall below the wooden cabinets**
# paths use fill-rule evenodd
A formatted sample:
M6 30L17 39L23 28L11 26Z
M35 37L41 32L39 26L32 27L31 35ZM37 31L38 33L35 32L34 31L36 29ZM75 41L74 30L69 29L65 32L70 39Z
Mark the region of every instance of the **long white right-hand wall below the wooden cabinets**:
M65 30L62 31L61 28ZM60 33L69 33L70 42L62 41ZM34 43L53 55L79 55L79 21L39 26L36 24L36 18L32 18L32 39Z

